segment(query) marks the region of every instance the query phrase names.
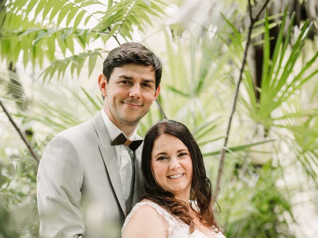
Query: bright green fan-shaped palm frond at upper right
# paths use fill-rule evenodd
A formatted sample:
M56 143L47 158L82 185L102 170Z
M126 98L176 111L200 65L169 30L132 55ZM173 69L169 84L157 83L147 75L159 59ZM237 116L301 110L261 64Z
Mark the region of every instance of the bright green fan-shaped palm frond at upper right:
M281 107L283 102L295 94L301 86L318 74L318 70L312 70L311 66L317 61L316 53L309 61L305 63L300 72L294 71L294 66L300 57L306 39L310 33L313 23L306 21L301 28L299 36L295 43L287 51L291 38L292 22L288 26L285 39L283 38L286 25L285 12L280 26L278 38L276 39L275 49L272 58L270 58L270 37L268 17L265 17L264 33L264 59L261 87L255 89L249 70L245 70L245 88L248 93L248 99L240 97L240 101L249 112L251 118L258 122L270 126L273 123L272 112ZM292 21L294 15L292 16ZM255 90L260 93L259 102L256 100Z

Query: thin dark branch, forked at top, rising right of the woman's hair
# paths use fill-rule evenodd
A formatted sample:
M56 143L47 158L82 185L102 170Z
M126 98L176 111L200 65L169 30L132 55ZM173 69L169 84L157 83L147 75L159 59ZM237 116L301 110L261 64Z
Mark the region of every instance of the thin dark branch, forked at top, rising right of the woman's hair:
M221 151L221 158L220 158L220 165L219 165L219 171L218 171L217 185L216 185L216 189L215 189L215 198L216 199L218 198L219 193L220 193L220 184L221 184L221 177L222 177L223 170L224 170L224 161L225 161L226 148L227 148L227 144L228 144L228 139L229 139L229 134L230 134L230 129L231 129L233 115L235 113L235 109L236 109L236 105L237 105L237 101L238 101L239 85L240 85L240 82L242 80L242 75L243 75L244 67L245 67L245 64L246 64L247 51L248 51L248 48L250 46L250 40L251 40L251 33L252 33L252 30L253 30L253 24L254 24L255 21L258 20L261 12L265 9L265 7L266 7L266 5L268 4L269 1L270 0L266 0L266 2L264 3L263 7L261 8L261 10L257 13L256 17L253 18L253 16L252 16L252 5L250 3L250 0L248 0L248 8L249 8L248 12L249 12L250 26L248 28L248 36L247 36L247 41L246 41L246 44L245 44L245 50L244 50L242 66L241 66L240 72L239 72L239 81L237 82L237 85L236 85L232 111L231 111L230 119L229 119L229 122L228 122L228 128L227 128L227 132L226 132L223 148L222 148L222 151Z

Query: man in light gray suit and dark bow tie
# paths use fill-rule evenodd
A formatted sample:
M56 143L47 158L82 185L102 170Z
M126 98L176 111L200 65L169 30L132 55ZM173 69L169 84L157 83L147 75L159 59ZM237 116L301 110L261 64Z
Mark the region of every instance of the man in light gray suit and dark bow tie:
M141 44L109 52L98 77L102 110L58 134L41 158L40 237L120 237L142 192L137 125L158 97L161 70L158 57Z

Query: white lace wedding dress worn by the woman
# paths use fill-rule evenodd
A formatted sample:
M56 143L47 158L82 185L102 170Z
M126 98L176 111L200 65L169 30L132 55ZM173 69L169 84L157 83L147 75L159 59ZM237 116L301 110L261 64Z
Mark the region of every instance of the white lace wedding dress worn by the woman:
M168 238L209 238L208 236L206 236L205 234L203 234L199 230L194 230L194 232L192 234L189 234L189 226L187 224L178 221L170 213L168 213L165 209L163 209L158 204L151 202L151 201L139 202L133 207L133 209L131 210L131 212L129 213L129 215L127 216L127 218L125 220L122 231L126 227L129 220L134 215L135 211L143 205L152 206L167 221L167 223L169 225ZM211 234L212 234L212 237L215 237L215 238L225 238L225 236L223 236L223 234L221 232L215 233L215 232L211 231Z

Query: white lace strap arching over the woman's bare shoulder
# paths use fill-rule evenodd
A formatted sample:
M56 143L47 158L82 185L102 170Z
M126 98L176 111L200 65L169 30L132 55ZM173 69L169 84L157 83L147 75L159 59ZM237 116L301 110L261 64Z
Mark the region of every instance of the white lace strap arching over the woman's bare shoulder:
M137 203L133 209L131 210L131 212L128 214L128 216L126 217L125 223L123 225L122 231L124 230L124 228L126 227L127 223L130 221L130 219L133 217L134 213L137 211L137 209L141 206L144 205L149 205L153 208L156 209L156 211L164 218L164 220L167 221L168 225L169 225L169 236L171 235L173 228L176 226L177 221L176 219L170 214L168 213L164 208L160 207L158 204L151 202L151 201L143 201L143 202L139 202Z

